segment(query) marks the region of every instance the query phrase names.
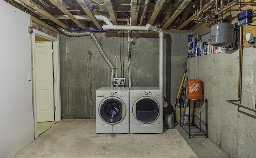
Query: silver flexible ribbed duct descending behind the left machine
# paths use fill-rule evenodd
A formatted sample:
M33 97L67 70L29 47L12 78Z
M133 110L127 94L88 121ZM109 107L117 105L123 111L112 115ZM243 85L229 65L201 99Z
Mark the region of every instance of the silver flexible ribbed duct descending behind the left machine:
M115 69L114 69L112 63L109 61L108 57L106 57L106 54L104 53L102 48L100 47L100 43L98 42L95 35L92 32L88 32L88 31L81 31L81 32L68 31L64 28L61 28L60 26L58 26L58 30L60 30L63 34L66 34L68 36L91 36L92 40L94 41L95 45L97 46L98 50L100 51L101 56L103 57L103 59L106 61L106 63L108 64L108 66L111 69L110 86L113 87Z

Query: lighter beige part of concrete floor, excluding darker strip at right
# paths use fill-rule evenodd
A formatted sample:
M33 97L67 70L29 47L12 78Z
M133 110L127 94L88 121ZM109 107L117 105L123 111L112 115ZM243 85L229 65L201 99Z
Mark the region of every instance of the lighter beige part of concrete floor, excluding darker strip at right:
M96 121L61 120L13 158L197 158L177 129L158 134L97 134Z

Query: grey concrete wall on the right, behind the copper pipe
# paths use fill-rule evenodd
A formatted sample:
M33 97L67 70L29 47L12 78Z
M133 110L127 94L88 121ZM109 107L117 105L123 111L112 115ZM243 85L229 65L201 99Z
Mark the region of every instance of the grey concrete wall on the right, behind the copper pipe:
M255 48L244 49L241 105L255 109ZM232 158L255 157L256 118L254 112L226 102L238 99L239 51L188 59L188 79L204 81L208 99L208 138Z

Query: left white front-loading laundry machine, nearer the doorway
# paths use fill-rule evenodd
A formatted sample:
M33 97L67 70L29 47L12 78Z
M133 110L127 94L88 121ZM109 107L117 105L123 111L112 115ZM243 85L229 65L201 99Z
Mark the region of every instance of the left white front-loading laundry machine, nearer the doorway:
M96 133L129 133L129 88L96 90Z

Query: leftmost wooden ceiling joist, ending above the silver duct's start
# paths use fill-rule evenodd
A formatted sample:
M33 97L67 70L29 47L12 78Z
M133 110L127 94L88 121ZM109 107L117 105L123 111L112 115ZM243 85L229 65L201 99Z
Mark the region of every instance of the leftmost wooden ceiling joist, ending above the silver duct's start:
M30 0L20 0L20 1L27 4L28 6L30 6L31 8L33 8L34 10L36 10L37 12L42 14L42 16L45 16L46 18L48 18L49 20L51 20L55 24L58 24L60 27L65 28L65 29L69 29L67 25L63 24L60 20L56 19L54 16L52 16L51 14L46 12L43 8L43 4L41 4L41 6L40 6L34 1L30 1Z

